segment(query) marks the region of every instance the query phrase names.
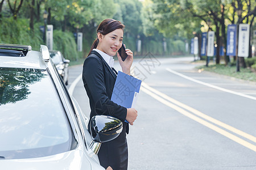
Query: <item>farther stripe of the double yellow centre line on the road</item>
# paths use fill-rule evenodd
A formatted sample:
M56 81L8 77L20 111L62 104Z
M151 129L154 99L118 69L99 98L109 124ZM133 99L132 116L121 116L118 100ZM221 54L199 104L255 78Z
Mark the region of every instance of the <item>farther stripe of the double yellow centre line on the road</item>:
M227 125L221 121L216 120L215 118L212 118L210 116L208 116L207 114L204 114L200 111L197 111L196 109L189 107L188 105L185 105L183 103L181 103L180 101L177 101L169 96L167 96L166 94L163 94L162 92L155 90L154 88L148 86L146 83L142 82L142 87L146 88L147 90L154 92L156 95L159 95L160 97L163 97L163 99L166 99L168 101L170 101L171 103L174 103L176 105L178 105L181 108L187 109L188 111L196 114L197 116L200 116L201 118L204 118L205 120L208 120L210 122L212 122L213 124L216 124L218 126L221 126L222 128L225 128L227 130L232 131L233 133L236 133L238 135L240 135L241 137L247 138L250 141L253 141L256 143L256 137L254 137L253 135L247 134L241 130L238 130L230 125Z

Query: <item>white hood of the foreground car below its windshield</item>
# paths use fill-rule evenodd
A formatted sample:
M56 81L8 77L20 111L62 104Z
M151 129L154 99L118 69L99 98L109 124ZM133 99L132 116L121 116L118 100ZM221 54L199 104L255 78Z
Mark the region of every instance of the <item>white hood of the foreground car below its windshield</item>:
M6 159L0 160L1 169L19 170L57 170L57 169L104 169L93 159L89 161L81 150L72 150L57 155L32 159Z

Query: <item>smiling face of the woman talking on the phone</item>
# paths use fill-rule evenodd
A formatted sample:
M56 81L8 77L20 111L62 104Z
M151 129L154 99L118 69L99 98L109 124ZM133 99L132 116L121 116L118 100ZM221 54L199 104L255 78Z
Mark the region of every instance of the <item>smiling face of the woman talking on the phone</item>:
M123 29L115 29L114 31L101 35L98 33L99 44L97 49L109 54L109 56L115 56L119 48L122 46L123 41Z

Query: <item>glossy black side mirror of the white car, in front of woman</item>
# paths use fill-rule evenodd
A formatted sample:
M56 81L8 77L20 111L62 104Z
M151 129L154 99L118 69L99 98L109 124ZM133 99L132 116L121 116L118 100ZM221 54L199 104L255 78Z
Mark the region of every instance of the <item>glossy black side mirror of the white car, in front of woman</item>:
M97 115L90 120L90 149L97 155L101 143L112 141L122 132L123 123L111 116Z

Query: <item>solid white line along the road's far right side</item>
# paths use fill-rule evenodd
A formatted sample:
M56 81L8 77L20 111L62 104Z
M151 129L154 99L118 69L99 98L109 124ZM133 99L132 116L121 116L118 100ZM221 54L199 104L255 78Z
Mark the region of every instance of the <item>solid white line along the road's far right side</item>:
M245 94L241 94L240 92L235 92L235 91L232 91L232 90L228 90L228 89L226 89L226 88L214 86L214 85L209 84L209 83L201 82L201 81L199 81L199 80L190 78L189 76L186 76L186 75L184 75L184 74L177 73L176 71L171 70L171 69L169 69L169 68L166 68L166 70L169 71L169 72L171 72L171 73L174 73L174 74L176 74L176 75L179 75L179 76L181 76L181 77L183 77L183 78L185 78L185 79L191 80L192 82L196 82L196 83L199 83L199 84L203 84L204 86L212 87L212 88L215 88L215 89L217 89L217 90L221 90L221 91L224 91L224 92L228 92L228 93L230 93L230 94L234 94L234 95L246 97L246 98L248 98L248 99L256 100L256 97L249 96L249 95L245 95Z

